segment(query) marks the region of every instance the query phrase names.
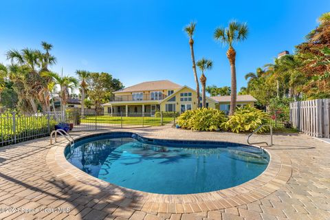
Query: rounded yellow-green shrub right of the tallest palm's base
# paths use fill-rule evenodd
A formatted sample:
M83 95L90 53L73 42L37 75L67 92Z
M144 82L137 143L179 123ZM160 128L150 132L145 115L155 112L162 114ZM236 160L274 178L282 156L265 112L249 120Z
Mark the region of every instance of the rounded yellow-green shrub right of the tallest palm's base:
M261 124L269 124L270 115L264 111L250 107L246 105L245 107L239 107L236 109L234 115L230 115L228 121L223 122L222 127L225 131L232 132L244 132L244 131L254 131ZM269 131L268 126L263 126L258 132L264 133Z

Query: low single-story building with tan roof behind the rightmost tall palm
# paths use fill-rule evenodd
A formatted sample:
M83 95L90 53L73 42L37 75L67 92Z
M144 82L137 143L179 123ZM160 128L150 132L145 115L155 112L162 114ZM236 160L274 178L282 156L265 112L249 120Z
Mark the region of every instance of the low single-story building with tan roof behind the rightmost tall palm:
M230 109L230 96L211 96L210 98L217 101L217 108L225 111L226 113L229 112ZM237 96L236 100L236 106L241 107L246 104L249 104L250 106L254 106L254 103L256 103L257 100L253 96L250 95L241 95Z

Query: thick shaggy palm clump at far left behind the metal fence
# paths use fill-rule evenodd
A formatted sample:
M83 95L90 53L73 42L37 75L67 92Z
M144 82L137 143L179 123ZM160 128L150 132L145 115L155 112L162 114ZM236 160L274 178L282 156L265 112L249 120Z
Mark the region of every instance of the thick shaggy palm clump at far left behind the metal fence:
M20 109L38 111L39 105L43 111L50 111L50 91L48 84L51 79L43 77L49 67L56 63L56 58L50 54L52 45L41 43L43 51L25 48L23 50L8 50L6 52L10 65L1 65L3 81L14 83L14 90L18 94Z

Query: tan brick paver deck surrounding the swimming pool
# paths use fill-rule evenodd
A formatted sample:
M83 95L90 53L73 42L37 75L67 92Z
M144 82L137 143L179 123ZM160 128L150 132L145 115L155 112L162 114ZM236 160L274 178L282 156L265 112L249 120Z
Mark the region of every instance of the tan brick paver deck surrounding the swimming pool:
M245 134L168 126L124 131L246 143ZM254 140L267 138L256 135ZM330 219L330 144L303 134L275 135L274 144L267 148L270 166L256 179L217 194L182 197L138 192L91 177L63 161L63 139L55 146L42 138L3 147L0 219Z

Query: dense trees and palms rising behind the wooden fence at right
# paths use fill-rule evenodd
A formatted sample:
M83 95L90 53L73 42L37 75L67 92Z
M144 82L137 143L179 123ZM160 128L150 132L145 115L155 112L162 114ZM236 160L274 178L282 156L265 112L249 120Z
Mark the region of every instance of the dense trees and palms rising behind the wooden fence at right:
M275 99L330 98L330 13L323 14L319 21L294 54L246 74L248 86L239 94L251 94L264 107Z

